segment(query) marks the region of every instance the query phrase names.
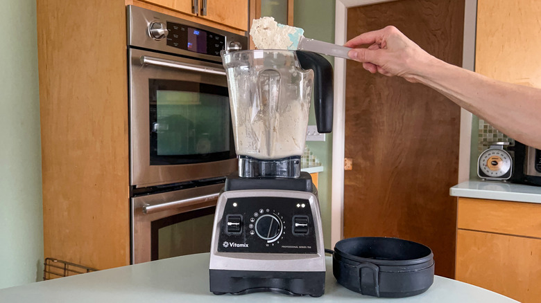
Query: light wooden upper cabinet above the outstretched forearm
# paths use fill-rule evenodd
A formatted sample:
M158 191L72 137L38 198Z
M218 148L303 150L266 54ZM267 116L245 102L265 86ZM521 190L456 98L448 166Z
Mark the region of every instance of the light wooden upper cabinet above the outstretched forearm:
M479 0L476 73L541 87L540 12L539 0Z

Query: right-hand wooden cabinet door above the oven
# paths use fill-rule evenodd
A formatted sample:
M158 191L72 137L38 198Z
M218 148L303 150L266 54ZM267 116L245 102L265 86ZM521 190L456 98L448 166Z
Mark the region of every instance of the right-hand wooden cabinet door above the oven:
M201 18L239 30L248 30L248 1L246 0L200 0L199 8Z

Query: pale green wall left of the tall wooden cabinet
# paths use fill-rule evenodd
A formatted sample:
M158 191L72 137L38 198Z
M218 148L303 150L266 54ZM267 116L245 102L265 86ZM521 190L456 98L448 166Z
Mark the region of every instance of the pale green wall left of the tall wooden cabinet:
M0 288L43 276L36 1L0 0Z

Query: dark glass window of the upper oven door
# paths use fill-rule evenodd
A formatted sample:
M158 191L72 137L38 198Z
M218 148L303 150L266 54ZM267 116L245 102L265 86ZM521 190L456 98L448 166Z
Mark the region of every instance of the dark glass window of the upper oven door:
M234 158L227 87L149 80L151 165Z

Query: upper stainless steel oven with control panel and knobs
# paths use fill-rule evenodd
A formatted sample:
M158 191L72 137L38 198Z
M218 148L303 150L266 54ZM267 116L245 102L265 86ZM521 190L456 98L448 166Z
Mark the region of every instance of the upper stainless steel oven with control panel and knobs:
M220 50L248 38L128 6L130 181L135 187L236 169Z

